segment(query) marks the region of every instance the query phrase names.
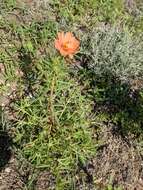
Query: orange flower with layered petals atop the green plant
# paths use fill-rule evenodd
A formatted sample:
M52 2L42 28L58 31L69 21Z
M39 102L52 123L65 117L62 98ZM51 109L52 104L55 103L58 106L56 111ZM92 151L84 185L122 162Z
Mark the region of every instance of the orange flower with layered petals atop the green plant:
M73 36L71 32L60 32L58 38L55 40L55 48L59 50L64 57L73 57L79 50L79 41Z

